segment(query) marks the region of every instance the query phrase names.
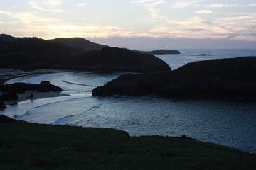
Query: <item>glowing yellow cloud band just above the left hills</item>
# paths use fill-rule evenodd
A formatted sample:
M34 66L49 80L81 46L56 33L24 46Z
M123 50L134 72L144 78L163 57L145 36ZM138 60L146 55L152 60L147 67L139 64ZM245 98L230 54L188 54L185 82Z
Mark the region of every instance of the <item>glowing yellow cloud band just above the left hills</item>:
M75 25L73 23L49 23L44 25L26 25L12 29L22 36L36 36L43 39L53 38L109 38L109 37L131 37L133 34L124 28L116 26L99 26L93 24Z

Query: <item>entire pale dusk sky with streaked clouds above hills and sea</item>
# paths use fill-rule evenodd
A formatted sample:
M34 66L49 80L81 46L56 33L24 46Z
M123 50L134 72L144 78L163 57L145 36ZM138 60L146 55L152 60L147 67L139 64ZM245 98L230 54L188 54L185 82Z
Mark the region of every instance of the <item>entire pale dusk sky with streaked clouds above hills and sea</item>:
M8 0L0 31L133 49L256 48L256 1Z

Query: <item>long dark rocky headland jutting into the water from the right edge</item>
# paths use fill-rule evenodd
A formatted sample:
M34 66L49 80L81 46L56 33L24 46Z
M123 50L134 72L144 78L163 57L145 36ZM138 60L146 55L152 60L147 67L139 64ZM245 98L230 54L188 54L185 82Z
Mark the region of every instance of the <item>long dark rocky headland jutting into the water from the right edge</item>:
M188 98L255 98L256 57L206 60L173 72L124 74L93 89L93 96L160 95Z

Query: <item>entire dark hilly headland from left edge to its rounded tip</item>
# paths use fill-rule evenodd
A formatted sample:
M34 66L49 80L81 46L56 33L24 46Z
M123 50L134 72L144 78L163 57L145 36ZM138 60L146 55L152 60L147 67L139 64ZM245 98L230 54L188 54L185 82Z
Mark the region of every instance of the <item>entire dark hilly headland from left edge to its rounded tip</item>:
M154 55L105 47L82 38L43 40L0 35L0 68L162 72L171 68Z

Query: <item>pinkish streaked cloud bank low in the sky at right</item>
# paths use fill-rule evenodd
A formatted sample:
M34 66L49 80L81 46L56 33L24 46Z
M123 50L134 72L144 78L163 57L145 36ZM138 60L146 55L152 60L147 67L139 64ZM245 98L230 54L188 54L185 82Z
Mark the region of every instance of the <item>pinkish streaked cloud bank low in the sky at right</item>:
M237 23L243 21L242 18L232 18L233 20L226 21L227 19L230 18L219 18L213 21L200 17L187 18L185 21L169 20L169 26L155 26L149 32L158 35L159 38L221 39L243 35L250 29L244 28L244 25L238 26Z

